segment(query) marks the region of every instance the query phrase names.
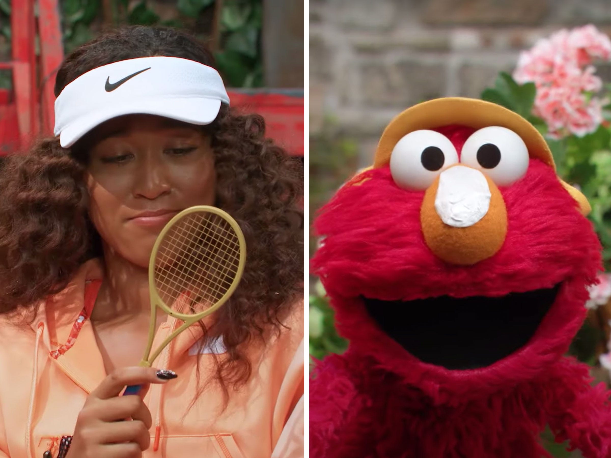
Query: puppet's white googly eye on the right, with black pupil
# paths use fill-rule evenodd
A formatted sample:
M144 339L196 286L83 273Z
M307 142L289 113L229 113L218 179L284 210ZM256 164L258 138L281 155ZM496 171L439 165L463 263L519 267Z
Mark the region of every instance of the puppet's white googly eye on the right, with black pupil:
M474 132L464 142L460 161L481 170L499 186L507 186L526 173L529 150L514 131L490 126Z

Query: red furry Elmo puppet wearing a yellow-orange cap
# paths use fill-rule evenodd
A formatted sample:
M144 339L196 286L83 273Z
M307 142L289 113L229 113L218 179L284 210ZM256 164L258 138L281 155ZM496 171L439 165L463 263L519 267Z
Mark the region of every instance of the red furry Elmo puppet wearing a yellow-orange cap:
M382 134L315 223L348 351L310 383L315 458L534 458L549 425L611 457L611 407L564 357L601 267L590 206L540 133L441 98Z

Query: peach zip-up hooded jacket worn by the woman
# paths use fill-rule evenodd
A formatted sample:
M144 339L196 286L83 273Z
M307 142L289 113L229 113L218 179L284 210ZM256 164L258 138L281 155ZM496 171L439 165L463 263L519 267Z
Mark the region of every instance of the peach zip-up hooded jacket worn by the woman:
M73 434L87 396L106 377L89 314L102 278L98 260L83 264L56 296L43 301L30 326L0 319L0 458L57 456L62 435ZM298 458L304 456L303 304L270 336L265 348L249 348L252 376L230 394L211 383L190 410L201 374L222 358L222 341L201 341L194 325L181 333L153 365L178 378L152 384L144 398L153 416L145 458ZM156 347L174 327L159 326ZM262 347L262 346L261 346Z

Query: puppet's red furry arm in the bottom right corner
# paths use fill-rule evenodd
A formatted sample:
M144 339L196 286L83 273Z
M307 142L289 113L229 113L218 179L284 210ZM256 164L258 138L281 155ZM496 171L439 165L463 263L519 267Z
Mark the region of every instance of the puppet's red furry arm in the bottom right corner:
M549 426L558 442L569 440L584 458L611 458L610 392L590 385L588 366L563 358L541 387Z

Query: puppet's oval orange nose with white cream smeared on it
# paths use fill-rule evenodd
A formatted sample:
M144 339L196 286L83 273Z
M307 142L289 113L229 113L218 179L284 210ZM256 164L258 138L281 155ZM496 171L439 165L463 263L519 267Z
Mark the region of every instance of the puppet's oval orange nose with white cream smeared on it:
M426 190L420 224L426 245L437 257L447 263L468 266L500 250L507 235L507 208L499 188L487 176L474 169L461 169L478 179L474 180L478 181L477 189L474 187L469 194L472 181L448 180L452 178L451 170L437 176ZM452 212L458 215L456 219Z

